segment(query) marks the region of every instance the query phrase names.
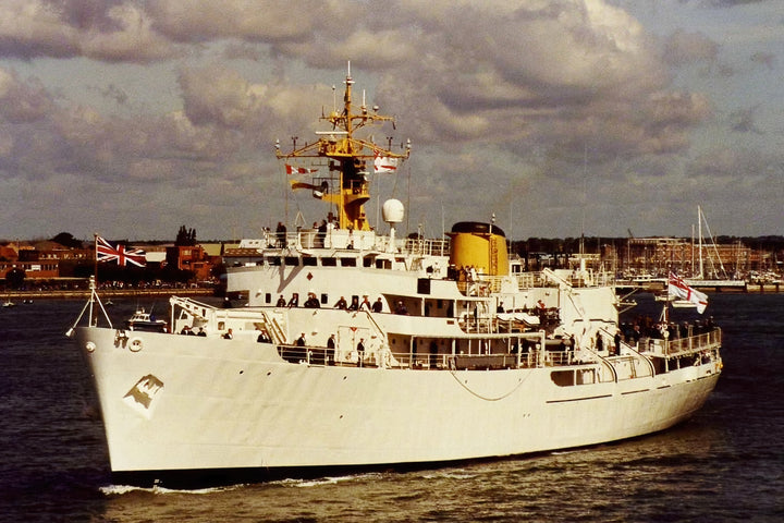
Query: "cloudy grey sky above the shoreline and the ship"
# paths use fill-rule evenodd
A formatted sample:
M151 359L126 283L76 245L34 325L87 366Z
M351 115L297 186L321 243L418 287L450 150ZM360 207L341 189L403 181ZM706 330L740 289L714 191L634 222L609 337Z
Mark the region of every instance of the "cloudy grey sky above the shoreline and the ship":
M781 0L2 0L0 239L320 220L285 150L351 61L412 155L367 215L441 235L784 234Z

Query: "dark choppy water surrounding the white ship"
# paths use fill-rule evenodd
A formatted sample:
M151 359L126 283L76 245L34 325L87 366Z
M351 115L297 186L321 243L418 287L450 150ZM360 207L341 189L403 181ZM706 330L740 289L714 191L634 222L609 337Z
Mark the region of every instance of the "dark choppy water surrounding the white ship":
M652 311L650 296L638 301ZM784 521L784 295L711 295L724 374L693 419L662 434L463 467L193 491L111 484L89 376L63 337L82 306L0 311L0 521Z

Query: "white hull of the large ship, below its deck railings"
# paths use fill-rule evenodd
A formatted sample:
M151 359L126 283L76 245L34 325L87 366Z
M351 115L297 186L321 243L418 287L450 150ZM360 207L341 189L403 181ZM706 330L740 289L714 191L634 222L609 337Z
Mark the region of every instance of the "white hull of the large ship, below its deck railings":
M292 364L273 344L82 327L123 483L426 466L627 439L697 411L720 363L562 387L491 372ZM560 368L560 370L563 370Z

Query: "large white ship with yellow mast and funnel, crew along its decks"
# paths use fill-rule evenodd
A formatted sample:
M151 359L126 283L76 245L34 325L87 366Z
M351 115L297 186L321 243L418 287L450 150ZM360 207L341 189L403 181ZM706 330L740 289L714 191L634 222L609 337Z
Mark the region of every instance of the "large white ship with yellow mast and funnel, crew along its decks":
M117 482L427 467L622 440L700 409L722 368L719 329L617 341L612 281L524 272L492 222L399 238L390 200L389 233L372 230L368 169L409 148L358 137L391 119L355 112L351 73L345 84L327 132L278 148L311 178L293 185L336 214L226 258L228 292L247 306L172 297L171 331L206 335L181 336L103 326L94 296L75 340Z

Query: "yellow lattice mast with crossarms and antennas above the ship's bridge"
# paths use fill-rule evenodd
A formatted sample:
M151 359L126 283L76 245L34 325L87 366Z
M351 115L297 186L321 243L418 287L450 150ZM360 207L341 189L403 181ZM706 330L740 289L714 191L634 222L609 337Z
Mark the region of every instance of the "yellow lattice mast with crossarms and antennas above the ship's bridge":
M338 226L341 229L355 229L358 231L370 230L370 224L365 216L365 203L370 198L370 183L368 181L368 160L372 163L377 156L405 160L411 154L411 142L406 144L402 154L392 153L372 142L354 136L354 133L365 125L382 122L392 122L393 117L378 114L378 107L368 111L363 99L358 113L352 112L352 85L351 62L345 80L345 95L343 96L343 111L333 110L328 117L322 115L332 124L332 131L319 132L319 139L301 148L294 148L290 153L282 153L280 144L275 144L275 156L278 159L287 161L292 158L314 158L311 166L323 166L326 159L329 174L326 177L314 175L313 184L292 183L294 188L311 188L314 196L333 204L338 208ZM294 144L296 147L296 143ZM309 170L313 172L313 170Z

